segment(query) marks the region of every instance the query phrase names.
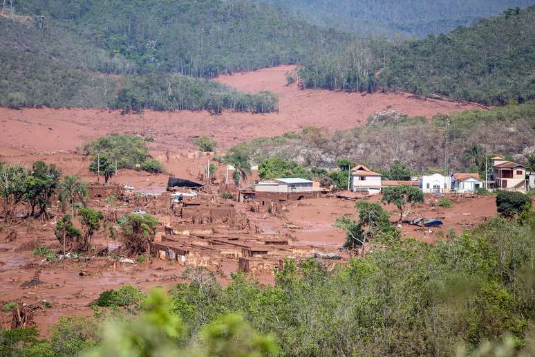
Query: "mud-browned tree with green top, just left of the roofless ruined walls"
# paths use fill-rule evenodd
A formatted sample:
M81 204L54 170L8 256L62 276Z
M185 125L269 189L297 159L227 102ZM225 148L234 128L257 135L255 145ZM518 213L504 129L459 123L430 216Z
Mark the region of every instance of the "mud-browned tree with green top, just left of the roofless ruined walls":
M151 214L131 213L121 224L121 239L130 255L151 253L151 243L156 234L158 220Z

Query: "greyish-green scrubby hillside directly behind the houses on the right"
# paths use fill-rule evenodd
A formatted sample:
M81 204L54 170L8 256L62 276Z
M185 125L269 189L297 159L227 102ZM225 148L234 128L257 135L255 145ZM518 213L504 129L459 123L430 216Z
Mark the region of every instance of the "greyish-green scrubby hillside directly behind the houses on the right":
M329 132L308 127L301 133L256 138L232 147L258 164L279 157L307 167L332 169L337 159L350 158L376 171L394 161L415 173L445 169L444 143L449 122L449 170L485 172L485 154L535 165L535 104L515 104L490 111L464 111L423 117L399 111L377 113L364 126ZM535 169L535 167L534 167Z

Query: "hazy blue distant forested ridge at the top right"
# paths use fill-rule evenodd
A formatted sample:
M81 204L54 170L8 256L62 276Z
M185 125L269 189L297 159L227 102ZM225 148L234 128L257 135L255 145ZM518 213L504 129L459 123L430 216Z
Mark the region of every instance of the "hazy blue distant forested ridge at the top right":
M424 37L447 33L498 15L507 8L527 7L534 0L267 0L295 17L357 35L383 33Z

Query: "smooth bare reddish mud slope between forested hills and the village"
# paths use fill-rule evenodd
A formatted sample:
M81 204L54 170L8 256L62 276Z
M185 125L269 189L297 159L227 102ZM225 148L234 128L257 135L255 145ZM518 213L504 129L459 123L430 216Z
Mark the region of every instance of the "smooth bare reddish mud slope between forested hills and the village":
M278 113L251 114L227 111L144 111L121 115L107 109L23 109L0 108L0 155L16 156L36 152L73 150L85 140L108 133L144 134L156 139L156 148L193 147L195 136L212 136L223 147L259 136L275 136L313 125L326 129L348 129L366 122L377 111L396 109L411 116L431 118L477 108L476 105L419 100L410 95L343 93L304 90L286 85L285 73L293 66L266 68L249 73L225 75L218 80L243 91L274 91L281 95Z

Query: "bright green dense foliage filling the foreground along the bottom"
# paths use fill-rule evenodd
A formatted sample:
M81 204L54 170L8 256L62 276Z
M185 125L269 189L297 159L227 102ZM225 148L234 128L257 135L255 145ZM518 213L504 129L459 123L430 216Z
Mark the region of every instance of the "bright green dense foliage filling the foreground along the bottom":
M369 203L368 203L369 204ZM377 209L384 213L380 205ZM388 217L388 214L386 214ZM60 318L46 340L0 331L3 356L525 356L533 345L535 224L494 217L436 244L386 223L366 257L329 268L287 260L274 286L206 268L167 297L105 291L94 317ZM103 319L107 324L102 327ZM490 342L489 342L490 341Z

